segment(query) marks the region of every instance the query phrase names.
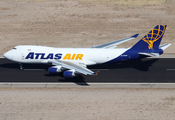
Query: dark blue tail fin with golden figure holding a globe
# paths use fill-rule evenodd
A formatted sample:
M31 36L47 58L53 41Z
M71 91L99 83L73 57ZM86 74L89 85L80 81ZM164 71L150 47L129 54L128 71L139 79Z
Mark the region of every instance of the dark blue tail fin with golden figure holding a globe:
M165 33L166 25L157 25L131 49L139 52L156 52Z

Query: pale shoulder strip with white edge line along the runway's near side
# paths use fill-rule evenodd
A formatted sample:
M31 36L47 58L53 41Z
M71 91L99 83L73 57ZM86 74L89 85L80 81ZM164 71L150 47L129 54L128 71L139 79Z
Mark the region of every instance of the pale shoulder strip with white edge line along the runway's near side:
M175 83L25 83L25 82L4 82L0 88L175 88Z

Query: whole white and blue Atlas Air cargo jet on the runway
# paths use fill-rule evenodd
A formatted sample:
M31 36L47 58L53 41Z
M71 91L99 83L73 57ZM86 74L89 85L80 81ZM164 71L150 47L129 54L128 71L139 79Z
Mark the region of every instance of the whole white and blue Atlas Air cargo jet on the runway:
M91 71L87 66L152 56L158 57L163 54L163 51L171 45L160 45L165 29L166 25L157 25L131 48L116 47L121 43L136 38L138 34L91 48L53 48L20 45L6 52L4 57L20 64L52 64L52 67L48 68L48 72L63 72L65 78L71 78L78 74L97 75L98 72ZM20 65L20 69L23 69L22 65Z

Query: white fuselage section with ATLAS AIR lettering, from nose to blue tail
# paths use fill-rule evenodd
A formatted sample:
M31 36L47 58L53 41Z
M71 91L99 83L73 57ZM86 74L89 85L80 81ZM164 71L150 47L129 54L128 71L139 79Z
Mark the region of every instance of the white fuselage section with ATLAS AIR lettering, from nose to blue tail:
M85 65L95 65L111 61L128 49L99 48L53 48L45 46L16 46L4 54L12 61L19 63L48 63L50 60L70 61Z

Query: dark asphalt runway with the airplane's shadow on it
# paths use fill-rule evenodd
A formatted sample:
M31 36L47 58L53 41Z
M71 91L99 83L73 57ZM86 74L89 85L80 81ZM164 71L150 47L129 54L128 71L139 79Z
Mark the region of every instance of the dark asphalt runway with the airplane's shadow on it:
M49 65L19 64L7 59L0 59L0 82L31 83L175 83L175 58L146 58L128 62L96 65L89 67L100 71L97 76L80 75L66 79L62 73L51 75Z

